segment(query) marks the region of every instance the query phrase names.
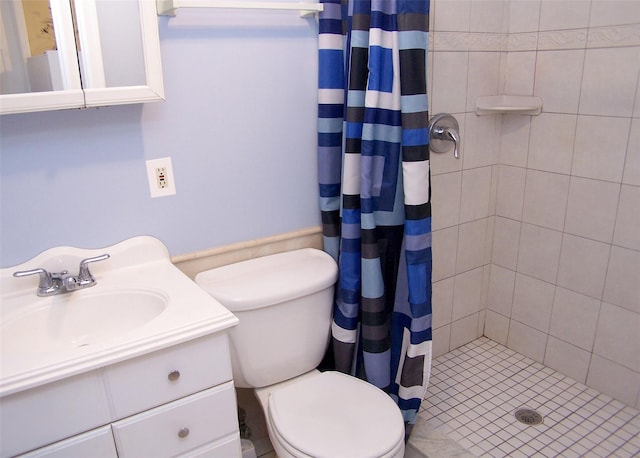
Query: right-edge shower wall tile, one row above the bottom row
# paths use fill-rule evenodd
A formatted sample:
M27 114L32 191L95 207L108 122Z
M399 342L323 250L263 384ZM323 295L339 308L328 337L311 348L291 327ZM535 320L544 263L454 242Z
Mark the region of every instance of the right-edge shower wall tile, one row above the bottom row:
M593 352L640 372L640 314L602 304Z

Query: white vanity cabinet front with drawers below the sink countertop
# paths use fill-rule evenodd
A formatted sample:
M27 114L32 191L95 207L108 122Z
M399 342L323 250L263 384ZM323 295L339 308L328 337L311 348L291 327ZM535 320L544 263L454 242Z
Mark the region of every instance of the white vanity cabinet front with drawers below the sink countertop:
M0 402L3 458L241 455L226 332Z

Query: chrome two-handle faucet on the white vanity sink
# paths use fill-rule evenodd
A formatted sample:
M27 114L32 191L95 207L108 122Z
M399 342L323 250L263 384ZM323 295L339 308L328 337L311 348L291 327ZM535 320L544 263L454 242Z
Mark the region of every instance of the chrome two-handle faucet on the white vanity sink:
M102 254L93 258L87 258L80 261L80 268L78 275L69 275L69 271L63 270L62 272L47 272L43 268L32 270L21 270L14 272L14 277L26 277L29 275L40 275L40 284L38 285L37 294L40 297L54 296L56 294L69 293L77 289L90 288L97 282L91 272L89 271L88 264L97 261L104 261L109 259L108 254Z

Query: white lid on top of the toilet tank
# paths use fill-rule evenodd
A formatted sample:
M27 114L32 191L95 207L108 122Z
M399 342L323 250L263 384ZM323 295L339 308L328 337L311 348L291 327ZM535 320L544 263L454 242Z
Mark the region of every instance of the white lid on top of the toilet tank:
M303 248L200 272L195 281L231 312L239 312L321 291L337 276L330 255Z

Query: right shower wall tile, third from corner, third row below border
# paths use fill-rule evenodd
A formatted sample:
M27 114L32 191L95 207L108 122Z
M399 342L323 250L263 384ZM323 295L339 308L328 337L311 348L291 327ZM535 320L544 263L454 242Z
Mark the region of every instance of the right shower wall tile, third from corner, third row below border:
M611 243L619 195L617 183L572 177L564 230Z

